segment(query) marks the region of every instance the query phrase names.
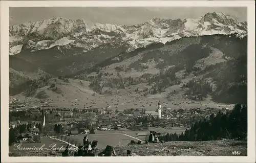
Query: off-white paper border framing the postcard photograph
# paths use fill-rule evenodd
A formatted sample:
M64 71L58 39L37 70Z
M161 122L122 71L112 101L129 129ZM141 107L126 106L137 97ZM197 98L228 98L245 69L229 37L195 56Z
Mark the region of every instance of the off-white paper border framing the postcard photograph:
M9 157L8 29L9 7L247 7L248 152L247 156ZM1 1L1 157L4 162L255 162L255 4L254 1Z

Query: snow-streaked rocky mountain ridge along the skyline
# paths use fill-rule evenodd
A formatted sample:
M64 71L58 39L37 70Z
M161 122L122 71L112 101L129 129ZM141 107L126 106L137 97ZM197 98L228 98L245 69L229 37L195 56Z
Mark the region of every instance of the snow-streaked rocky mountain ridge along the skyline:
M106 43L128 41L126 51L145 47L152 42L172 41L182 37L212 34L247 33L247 22L239 22L224 13L206 13L197 19L153 18L141 24L112 25L56 17L9 27L9 54L57 47L82 48L90 51Z

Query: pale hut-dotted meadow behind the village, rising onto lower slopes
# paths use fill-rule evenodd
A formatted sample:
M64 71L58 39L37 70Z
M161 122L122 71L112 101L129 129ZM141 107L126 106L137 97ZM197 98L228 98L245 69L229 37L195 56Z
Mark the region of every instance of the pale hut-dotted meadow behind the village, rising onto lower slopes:
M25 102L28 107L31 106L40 106L42 104L49 104L52 107L69 107L78 109L83 109L84 107L89 108L105 108L109 107L110 109L124 110L126 108L145 108L146 110L156 110L158 101L162 103L162 107L179 109L179 108L223 108L228 107L232 108L233 105L227 104L217 104L210 100L210 98L205 99L204 101L192 101L182 98L182 91L172 96L170 99L166 98L166 92L157 95L148 95L146 97L141 97L141 94L134 92L136 87L140 85L126 87L125 89L118 90L118 95L99 95L96 94L93 96L94 91L92 91L88 85L89 82L83 81L84 85L79 85L80 80L71 80L70 83L64 83L58 85L58 87L63 91L62 94L56 94L52 90L48 90L50 86L39 88L37 91L44 90L49 96L48 99L41 99L42 102L39 103L39 99L34 97L25 98L24 95L19 94L14 96L20 100L20 102ZM141 84L143 85L143 84ZM143 86L141 86L143 87ZM179 90L179 86L175 85L167 88L167 91Z

